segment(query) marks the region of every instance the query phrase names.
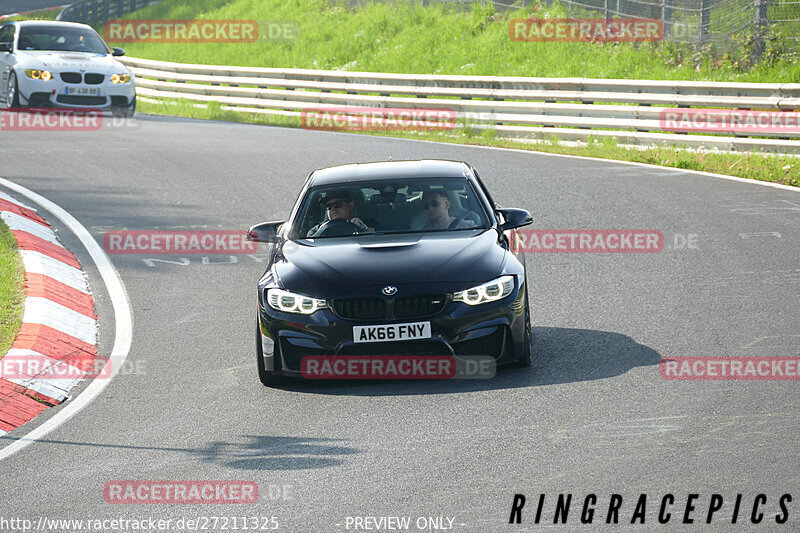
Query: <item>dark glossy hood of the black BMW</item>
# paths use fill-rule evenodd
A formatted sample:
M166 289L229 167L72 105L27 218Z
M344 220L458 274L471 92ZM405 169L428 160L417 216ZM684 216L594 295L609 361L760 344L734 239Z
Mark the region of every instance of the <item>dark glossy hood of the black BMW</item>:
M338 242L337 242L338 241ZM465 288L500 274L507 253L495 230L287 241L273 266L281 285L321 297L341 289L432 283ZM457 290L457 289L452 289Z

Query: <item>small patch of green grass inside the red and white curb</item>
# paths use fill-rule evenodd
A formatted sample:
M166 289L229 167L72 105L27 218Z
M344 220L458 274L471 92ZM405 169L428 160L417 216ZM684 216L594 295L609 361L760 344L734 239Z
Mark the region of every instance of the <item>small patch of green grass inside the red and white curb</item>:
M0 357L4 356L22 325L25 269L17 241L0 220Z

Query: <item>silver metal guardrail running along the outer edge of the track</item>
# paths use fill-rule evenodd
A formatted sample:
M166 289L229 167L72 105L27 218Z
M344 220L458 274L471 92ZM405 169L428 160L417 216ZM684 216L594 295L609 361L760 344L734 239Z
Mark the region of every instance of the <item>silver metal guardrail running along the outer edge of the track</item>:
M358 114L358 108L446 108L500 136L615 137L623 144L800 154L800 127L757 137L733 130L687 134L666 132L660 120L665 110L678 108L800 109L800 83L440 76L121 60L136 74L140 96L217 102L242 112L299 116L320 108L346 114Z

